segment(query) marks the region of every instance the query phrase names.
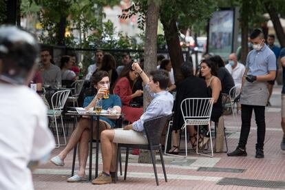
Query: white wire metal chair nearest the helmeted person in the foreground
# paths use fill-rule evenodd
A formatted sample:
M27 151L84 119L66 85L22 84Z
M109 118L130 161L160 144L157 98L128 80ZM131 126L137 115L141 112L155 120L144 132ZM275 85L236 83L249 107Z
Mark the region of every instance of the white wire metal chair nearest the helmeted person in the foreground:
M52 95L52 109L47 110L47 116L52 118L52 127L55 125L56 128L56 136L57 136L57 144L56 148L60 147L61 145L66 145L66 138L65 138L65 129L63 125L63 117L61 113L63 112L63 107L67 101L67 97L70 94L70 90L61 90L55 92ZM59 130L57 126L56 118L61 118L61 127L63 128L63 137L64 137L64 144L59 142Z

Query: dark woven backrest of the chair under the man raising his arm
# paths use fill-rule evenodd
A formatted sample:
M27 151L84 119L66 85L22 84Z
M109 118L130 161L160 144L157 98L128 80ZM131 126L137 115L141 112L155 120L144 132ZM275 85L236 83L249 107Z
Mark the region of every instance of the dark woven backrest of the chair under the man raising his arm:
M172 114L160 116L144 122L143 127L145 128L145 134L147 135L150 149L154 146L160 145L162 130L167 122L171 120L171 116Z

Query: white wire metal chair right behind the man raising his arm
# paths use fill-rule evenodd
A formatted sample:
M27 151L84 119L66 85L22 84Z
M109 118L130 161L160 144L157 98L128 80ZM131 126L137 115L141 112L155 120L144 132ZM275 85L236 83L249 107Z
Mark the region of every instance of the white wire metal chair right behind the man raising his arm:
M181 104L180 109L184 119L184 124L181 130L185 131L185 156L178 156L173 154L167 154L171 156L178 156L187 158L187 125L198 125L197 139L199 139L199 126L208 125L210 142L211 142L211 156L213 157L213 142L211 136L211 112L213 108L213 98L185 98ZM167 139L165 145L167 145L167 140L169 136L169 130L172 122L169 122L169 127L167 130ZM198 145L196 147L196 153L204 156L209 156L207 154L201 154L198 152ZM166 151L165 151L166 154Z

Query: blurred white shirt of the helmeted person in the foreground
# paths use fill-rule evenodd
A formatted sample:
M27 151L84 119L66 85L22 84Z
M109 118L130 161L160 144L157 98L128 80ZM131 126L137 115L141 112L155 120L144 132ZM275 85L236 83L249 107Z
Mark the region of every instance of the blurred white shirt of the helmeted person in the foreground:
M33 189L28 162L54 149L46 107L32 89L0 83L0 189Z

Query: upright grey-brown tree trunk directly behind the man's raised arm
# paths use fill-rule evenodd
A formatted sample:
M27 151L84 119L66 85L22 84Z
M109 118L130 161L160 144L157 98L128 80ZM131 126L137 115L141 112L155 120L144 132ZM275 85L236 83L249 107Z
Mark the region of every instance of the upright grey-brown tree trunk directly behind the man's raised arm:
M145 65L144 70L147 74L151 70L156 70L156 56L157 56L157 31L158 31L158 14L159 5L157 1L151 0L147 7L146 21L145 21ZM143 93L143 107L147 108L151 102L149 93L144 90ZM140 150L138 157L139 163L151 163L151 154L149 151Z

